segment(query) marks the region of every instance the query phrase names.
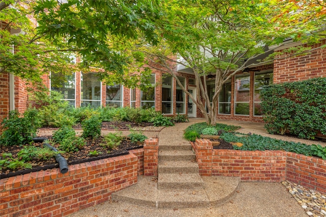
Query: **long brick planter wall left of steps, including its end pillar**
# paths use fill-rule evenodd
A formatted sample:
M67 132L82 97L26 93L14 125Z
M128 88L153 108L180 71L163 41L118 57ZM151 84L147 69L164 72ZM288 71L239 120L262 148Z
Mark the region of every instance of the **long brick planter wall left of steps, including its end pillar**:
M72 165L65 174L52 169L2 179L0 216L66 216L110 200L112 193L137 183L138 175L144 174L144 159L155 164L158 140L146 140L144 149ZM155 167L145 171L155 173Z

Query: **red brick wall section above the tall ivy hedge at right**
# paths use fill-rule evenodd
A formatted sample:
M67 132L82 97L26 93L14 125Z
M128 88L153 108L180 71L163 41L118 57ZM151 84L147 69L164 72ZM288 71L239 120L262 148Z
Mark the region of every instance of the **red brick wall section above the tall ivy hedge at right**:
M315 44L318 48L325 40ZM305 45L307 46L307 45ZM280 58L280 57L276 57ZM326 77L326 49L316 49L305 56L290 57L274 61L274 84L296 82L314 77Z

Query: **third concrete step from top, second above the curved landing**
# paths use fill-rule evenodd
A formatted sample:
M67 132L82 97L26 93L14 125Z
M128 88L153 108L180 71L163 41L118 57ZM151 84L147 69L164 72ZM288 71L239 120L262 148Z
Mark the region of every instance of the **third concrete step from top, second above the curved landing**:
M191 160L160 160L158 173L199 173L199 167Z

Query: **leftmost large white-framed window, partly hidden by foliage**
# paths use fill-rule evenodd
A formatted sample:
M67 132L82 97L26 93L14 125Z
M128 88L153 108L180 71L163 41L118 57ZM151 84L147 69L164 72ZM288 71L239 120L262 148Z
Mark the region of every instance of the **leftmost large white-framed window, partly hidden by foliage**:
M75 106L75 73L72 75L51 73L51 91L58 91L64 100Z

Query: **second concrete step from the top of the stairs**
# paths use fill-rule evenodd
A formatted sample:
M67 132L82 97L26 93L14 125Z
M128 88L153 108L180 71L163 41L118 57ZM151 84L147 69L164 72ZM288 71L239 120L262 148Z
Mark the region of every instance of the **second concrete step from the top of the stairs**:
M191 150L163 150L158 152L158 160L194 160L195 154Z

